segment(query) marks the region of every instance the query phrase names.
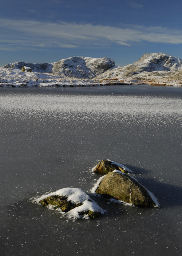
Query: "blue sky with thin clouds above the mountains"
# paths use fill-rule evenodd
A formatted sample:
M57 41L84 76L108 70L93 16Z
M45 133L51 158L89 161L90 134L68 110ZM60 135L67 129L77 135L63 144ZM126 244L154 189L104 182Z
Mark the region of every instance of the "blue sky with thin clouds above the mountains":
M0 66L110 57L116 65L148 52L182 59L181 0L1 0Z

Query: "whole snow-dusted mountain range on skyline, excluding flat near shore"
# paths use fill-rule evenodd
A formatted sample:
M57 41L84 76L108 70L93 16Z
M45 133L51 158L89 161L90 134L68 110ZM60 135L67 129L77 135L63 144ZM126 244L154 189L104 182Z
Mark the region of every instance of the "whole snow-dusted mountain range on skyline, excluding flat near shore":
M70 57L54 63L32 64L16 62L4 68L21 69L26 66L33 72L51 73L61 77L83 79L132 79L154 80L182 79L182 60L166 53L145 53L142 57L127 66L115 66L114 60L91 57ZM181 82L180 82L181 83Z

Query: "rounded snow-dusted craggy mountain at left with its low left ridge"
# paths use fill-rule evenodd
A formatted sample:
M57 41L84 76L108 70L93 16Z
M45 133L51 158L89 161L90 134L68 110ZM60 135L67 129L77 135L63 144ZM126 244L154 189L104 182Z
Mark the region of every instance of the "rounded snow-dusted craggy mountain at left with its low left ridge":
M33 72L53 73L60 76L72 78L95 78L102 75L105 71L115 66L114 60L110 58L91 58L91 57L70 57L54 63L32 64L16 62L7 64L4 68L21 69L30 67Z

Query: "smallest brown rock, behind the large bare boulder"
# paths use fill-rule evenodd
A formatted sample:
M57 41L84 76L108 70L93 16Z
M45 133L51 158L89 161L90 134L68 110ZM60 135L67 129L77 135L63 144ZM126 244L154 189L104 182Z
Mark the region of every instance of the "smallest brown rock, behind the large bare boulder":
M95 167L94 172L95 173L108 173L108 172L113 172L114 170L121 171L123 173L129 174L132 173L130 169L128 169L126 166L112 162L109 160L102 160L98 163L98 165Z

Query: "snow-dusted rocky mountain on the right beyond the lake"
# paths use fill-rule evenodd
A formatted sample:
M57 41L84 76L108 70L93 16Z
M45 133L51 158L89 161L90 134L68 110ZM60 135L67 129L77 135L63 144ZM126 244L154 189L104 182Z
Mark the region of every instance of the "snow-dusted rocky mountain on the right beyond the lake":
M115 66L98 78L128 78L133 76L138 78L137 75L145 76L145 72L156 72L153 75L163 76L166 72L175 71L182 71L181 59L161 52L145 53L138 61L125 67ZM169 75L169 73L166 75Z

